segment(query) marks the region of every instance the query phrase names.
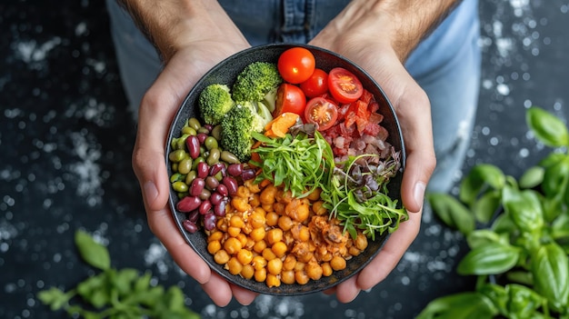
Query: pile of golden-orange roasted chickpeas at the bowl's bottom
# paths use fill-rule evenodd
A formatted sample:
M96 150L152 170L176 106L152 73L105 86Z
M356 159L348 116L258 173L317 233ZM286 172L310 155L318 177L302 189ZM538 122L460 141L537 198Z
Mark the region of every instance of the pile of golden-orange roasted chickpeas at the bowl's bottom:
M240 185L206 231L207 250L229 273L269 287L306 284L344 269L367 247L364 234L353 239L329 218L320 192L293 198L265 182Z

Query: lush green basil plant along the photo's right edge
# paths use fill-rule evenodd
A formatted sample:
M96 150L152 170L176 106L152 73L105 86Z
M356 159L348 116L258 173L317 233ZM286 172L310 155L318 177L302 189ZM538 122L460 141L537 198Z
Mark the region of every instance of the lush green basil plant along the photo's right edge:
M434 213L466 236L471 250L456 271L477 283L435 299L417 319L569 318L569 131L538 107L526 123L555 149L518 180L479 164L458 198L427 194Z

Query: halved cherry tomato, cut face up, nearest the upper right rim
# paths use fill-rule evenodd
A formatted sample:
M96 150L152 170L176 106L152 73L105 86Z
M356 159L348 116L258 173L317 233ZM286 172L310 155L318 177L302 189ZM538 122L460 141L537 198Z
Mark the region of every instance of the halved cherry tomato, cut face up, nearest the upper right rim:
M342 67L330 70L328 90L338 103L352 103L364 94L364 86L360 80Z

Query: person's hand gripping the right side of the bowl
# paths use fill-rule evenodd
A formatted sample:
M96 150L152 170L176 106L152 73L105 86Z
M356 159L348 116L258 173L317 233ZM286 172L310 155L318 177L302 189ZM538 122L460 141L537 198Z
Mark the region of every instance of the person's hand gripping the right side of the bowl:
M374 77L394 105L407 151L401 195L410 213L409 220L400 224L381 252L359 274L327 292L335 292L344 303L384 280L413 243L421 224L424 189L436 164L431 105L403 65L419 38L408 37L407 43L401 42L400 37L405 35L394 27L394 15L378 14L372 3L353 1L310 43L344 55Z

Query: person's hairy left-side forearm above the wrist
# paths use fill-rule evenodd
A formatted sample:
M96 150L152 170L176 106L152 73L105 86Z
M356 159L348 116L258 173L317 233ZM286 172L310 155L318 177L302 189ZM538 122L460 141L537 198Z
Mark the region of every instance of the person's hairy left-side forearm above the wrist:
M221 27L226 15L217 1L206 0L117 0L135 24L168 61L187 43ZM208 30L209 29L209 30ZM201 31L200 31L201 30Z

